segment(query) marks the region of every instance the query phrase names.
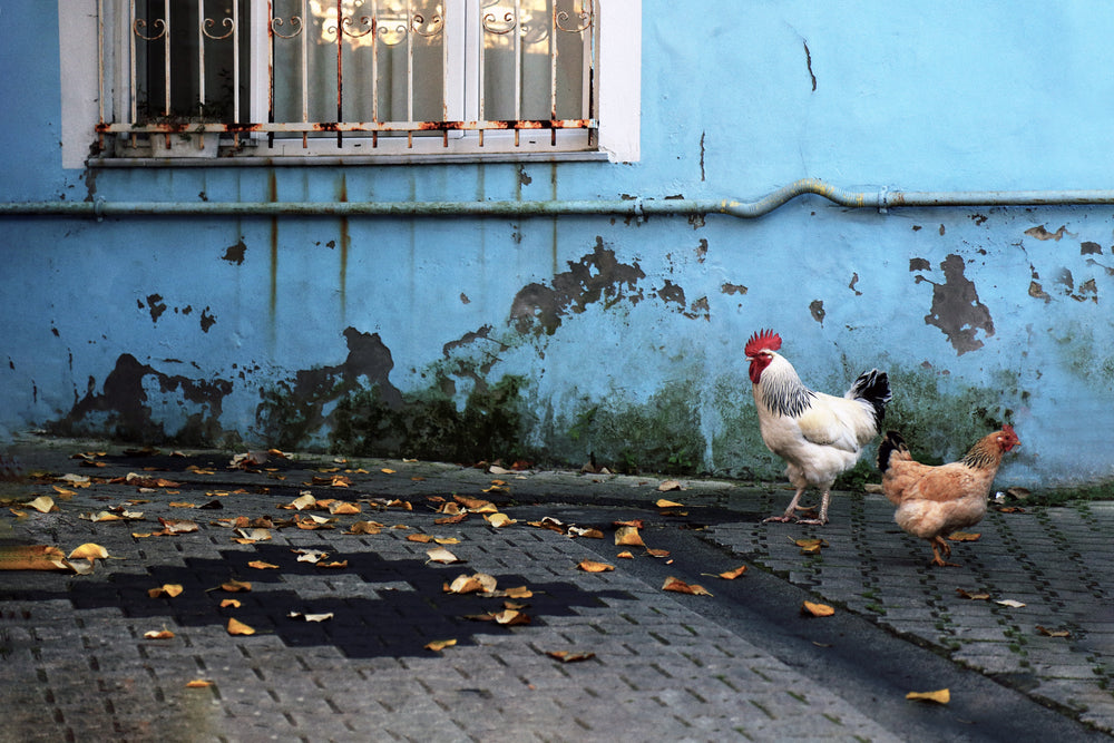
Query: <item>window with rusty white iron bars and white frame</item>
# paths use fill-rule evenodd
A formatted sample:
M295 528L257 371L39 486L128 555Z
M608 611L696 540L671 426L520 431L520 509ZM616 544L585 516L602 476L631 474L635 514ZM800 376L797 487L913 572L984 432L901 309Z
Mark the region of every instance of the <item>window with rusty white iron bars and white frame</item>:
M88 1L91 162L637 159L637 0ZM63 71L87 27L61 19Z

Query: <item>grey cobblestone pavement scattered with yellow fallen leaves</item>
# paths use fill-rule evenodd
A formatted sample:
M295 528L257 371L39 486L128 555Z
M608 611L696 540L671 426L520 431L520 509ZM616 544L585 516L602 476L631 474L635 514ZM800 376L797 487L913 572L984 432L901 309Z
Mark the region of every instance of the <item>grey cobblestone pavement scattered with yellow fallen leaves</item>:
M105 450L90 462L69 458ZM759 522L783 506L780 489L705 480L662 493L654 478L417 462L272 458L247 471L229 468L227 453L120 456L41 440L11 451L22 477L0 482L0 545L68 554L94 542L110 557L90 575L0 571L0 740L903 740L869 707L694 608L714 598L666 593L625 569L655 558L642 548L617 557L613 528L574 539L526 518L500 528L476 512L444 521L437 509L455 495L530 519L561 504L658 519L657 498L683 501L686 512L715 515L676 524L717 545L724 565L765 568L1067 717L1114 727L1114 504L994 514L978 542L956 546L964 567L929 570L927 547L897 530L879 496L838 495L832 524L815 530ZM58 479L66 475L78 481ZM304 492L360 511L280 508ZM36 496L58 510L23 505ZM118 507L143 520L82 518ZM237 531L237 517L252 524ZM303 528L313 517L334 520ZM159 519L197 529L159 536L180 528ZM361 521L381 526L349 534ZM813 532L827 546L804 556L793 540ZM427 537L446 544L414 540ZM432 561L438 547L461 563ZM616 569L587 573L583 560ZM475 573L530 595L446 592ZM251 589L228 590L234 580ZM149 595L164 585L183 590ZM961 598L959 588L989 598ZM1025 606L996 603L1005 599ZM490 620L514 616L508 607L529 624ZM305 620L314 615L332 616ZM231 619L255 634L231 634ZM1069 636L1043 636L1037 625ZM162 629L173 637L145 638ZM563 663L554 653L590 657ZM908 704L910 715L930 714Z

